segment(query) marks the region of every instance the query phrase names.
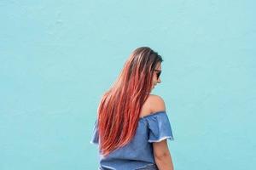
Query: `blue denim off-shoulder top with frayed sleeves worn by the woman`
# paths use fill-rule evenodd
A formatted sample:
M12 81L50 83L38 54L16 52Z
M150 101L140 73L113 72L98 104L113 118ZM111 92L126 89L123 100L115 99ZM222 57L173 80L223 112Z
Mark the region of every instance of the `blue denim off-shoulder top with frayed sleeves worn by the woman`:
M99 144L99 139L96 120L90 143ZM173 140L172 127L166 111L157 111L143 116L138 121L135 136L128 144L118 150L113 150L108 156L102 156L99 150L100 166L98 169L157 169L152 143L164 139Z

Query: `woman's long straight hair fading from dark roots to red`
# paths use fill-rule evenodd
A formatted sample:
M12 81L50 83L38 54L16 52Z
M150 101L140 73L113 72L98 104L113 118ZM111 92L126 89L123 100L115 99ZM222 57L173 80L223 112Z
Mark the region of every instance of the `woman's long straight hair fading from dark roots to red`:
M154 69L163 59L151 48L135 49L113 86L102 95L97 110L100 150L103 156L129 143L151 88Z

